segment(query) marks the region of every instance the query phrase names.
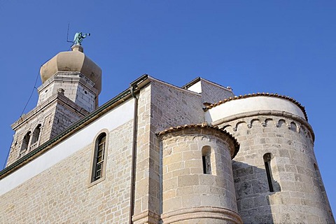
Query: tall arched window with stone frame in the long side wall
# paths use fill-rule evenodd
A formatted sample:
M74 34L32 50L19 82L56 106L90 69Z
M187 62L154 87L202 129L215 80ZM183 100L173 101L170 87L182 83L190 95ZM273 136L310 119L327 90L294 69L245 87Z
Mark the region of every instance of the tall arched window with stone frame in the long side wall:
M102 180L105 176L106 169L106 150L107 136L106 132L98 135L94 142L94 156L92 164L91 183L94 181Z

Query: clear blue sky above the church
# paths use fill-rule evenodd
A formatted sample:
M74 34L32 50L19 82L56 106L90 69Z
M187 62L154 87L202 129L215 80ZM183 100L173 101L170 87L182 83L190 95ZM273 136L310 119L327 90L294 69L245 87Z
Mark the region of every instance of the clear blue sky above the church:
M0 168L40 66L71 46L70 23L71 40L91 33L83 47L103 71L100 105L144 73L178 86L201 76L237 95L295 98L314 129L335 214L335 11L336 1L0 0ZM34 90L25 113L37 98Z

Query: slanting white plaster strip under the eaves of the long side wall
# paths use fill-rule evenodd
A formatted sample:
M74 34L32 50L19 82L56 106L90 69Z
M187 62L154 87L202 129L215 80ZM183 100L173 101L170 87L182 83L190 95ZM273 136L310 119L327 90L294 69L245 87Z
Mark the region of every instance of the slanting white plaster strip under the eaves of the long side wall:
M69 155L76 153L76 151L79 151L81 148L91 144L94 137L100 130L107 129L111 132L111 130L116 129L116 127L132 120L133 113L134 99L130 99L124 104L118 106L116 109L113 109L104 116L98 118L98 120L95 120L90 125L87 125L87 127L84 127L68 139L62 141L54 148L51 148L35 160L27 163L27 165L1 179L0 195L18 187L25 181L57 164L57 162L64 160L69 157Z

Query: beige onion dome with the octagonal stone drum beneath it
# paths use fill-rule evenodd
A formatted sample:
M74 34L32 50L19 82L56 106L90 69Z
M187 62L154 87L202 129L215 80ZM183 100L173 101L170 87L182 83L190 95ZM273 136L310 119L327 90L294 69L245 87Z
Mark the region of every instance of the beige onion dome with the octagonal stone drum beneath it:
M81 45L71 48L72 51L59 52L41 66L43 85L38 88L38 104L62 88L66 97L92 112L97 109L102 91L102 69L83 53Z

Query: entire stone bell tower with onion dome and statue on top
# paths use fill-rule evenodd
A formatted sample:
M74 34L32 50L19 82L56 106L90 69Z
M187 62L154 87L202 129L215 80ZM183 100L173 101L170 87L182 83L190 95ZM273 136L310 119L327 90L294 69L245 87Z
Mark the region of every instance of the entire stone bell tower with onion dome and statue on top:
M41 66L37 106L13 123L15 134L6 166L97 109L102 69L83 53L80 42Z

